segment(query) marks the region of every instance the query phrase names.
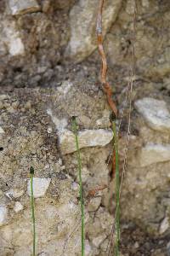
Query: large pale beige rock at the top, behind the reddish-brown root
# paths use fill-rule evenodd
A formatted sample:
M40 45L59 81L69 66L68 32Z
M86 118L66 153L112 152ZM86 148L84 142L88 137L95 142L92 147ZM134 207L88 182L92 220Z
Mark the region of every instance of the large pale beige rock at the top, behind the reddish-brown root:
M122 4L122 0L107 1L103 15L103 33L108 31ZM80 0L71 9L71 40L66 49L66 56L82 61L97 48L95 39L98 0Z

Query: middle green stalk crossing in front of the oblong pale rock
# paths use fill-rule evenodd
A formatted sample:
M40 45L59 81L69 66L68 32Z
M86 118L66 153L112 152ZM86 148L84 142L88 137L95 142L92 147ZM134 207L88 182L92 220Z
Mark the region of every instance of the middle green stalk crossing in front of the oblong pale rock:
M81 204L81 217L82 217L82 256L84 256L84 203L83 203L83 189L82 189L82 159L80 154L78 132L77 132L77 120L75 117L72 118L72 130L75 135L75 143L77 148L77 164L78 164L78 176L80 184L80 204Z

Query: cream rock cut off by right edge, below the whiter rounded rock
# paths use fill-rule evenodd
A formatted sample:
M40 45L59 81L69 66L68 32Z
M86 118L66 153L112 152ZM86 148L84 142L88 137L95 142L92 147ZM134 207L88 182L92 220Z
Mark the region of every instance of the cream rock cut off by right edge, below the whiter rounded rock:
M139 165L149 166L170 160L170 145L148 143L139 151Z

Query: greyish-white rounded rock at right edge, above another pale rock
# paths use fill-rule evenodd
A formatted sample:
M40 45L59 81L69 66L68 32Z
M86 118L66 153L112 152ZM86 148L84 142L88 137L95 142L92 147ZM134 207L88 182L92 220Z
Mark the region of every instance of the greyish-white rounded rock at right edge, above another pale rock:
M170 131L170 113L166 102L143 98L134 103L150 128L156 131Z

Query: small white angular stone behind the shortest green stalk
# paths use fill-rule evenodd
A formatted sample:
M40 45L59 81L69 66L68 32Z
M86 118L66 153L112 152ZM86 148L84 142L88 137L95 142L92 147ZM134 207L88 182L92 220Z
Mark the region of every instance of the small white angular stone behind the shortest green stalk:
M51 182L51 178L45 178L45 177L34 177L33 178L33 192L34 197L42 197L45 195L49 183ZM27 193L31 196L31 180L28 180L27 183Z

